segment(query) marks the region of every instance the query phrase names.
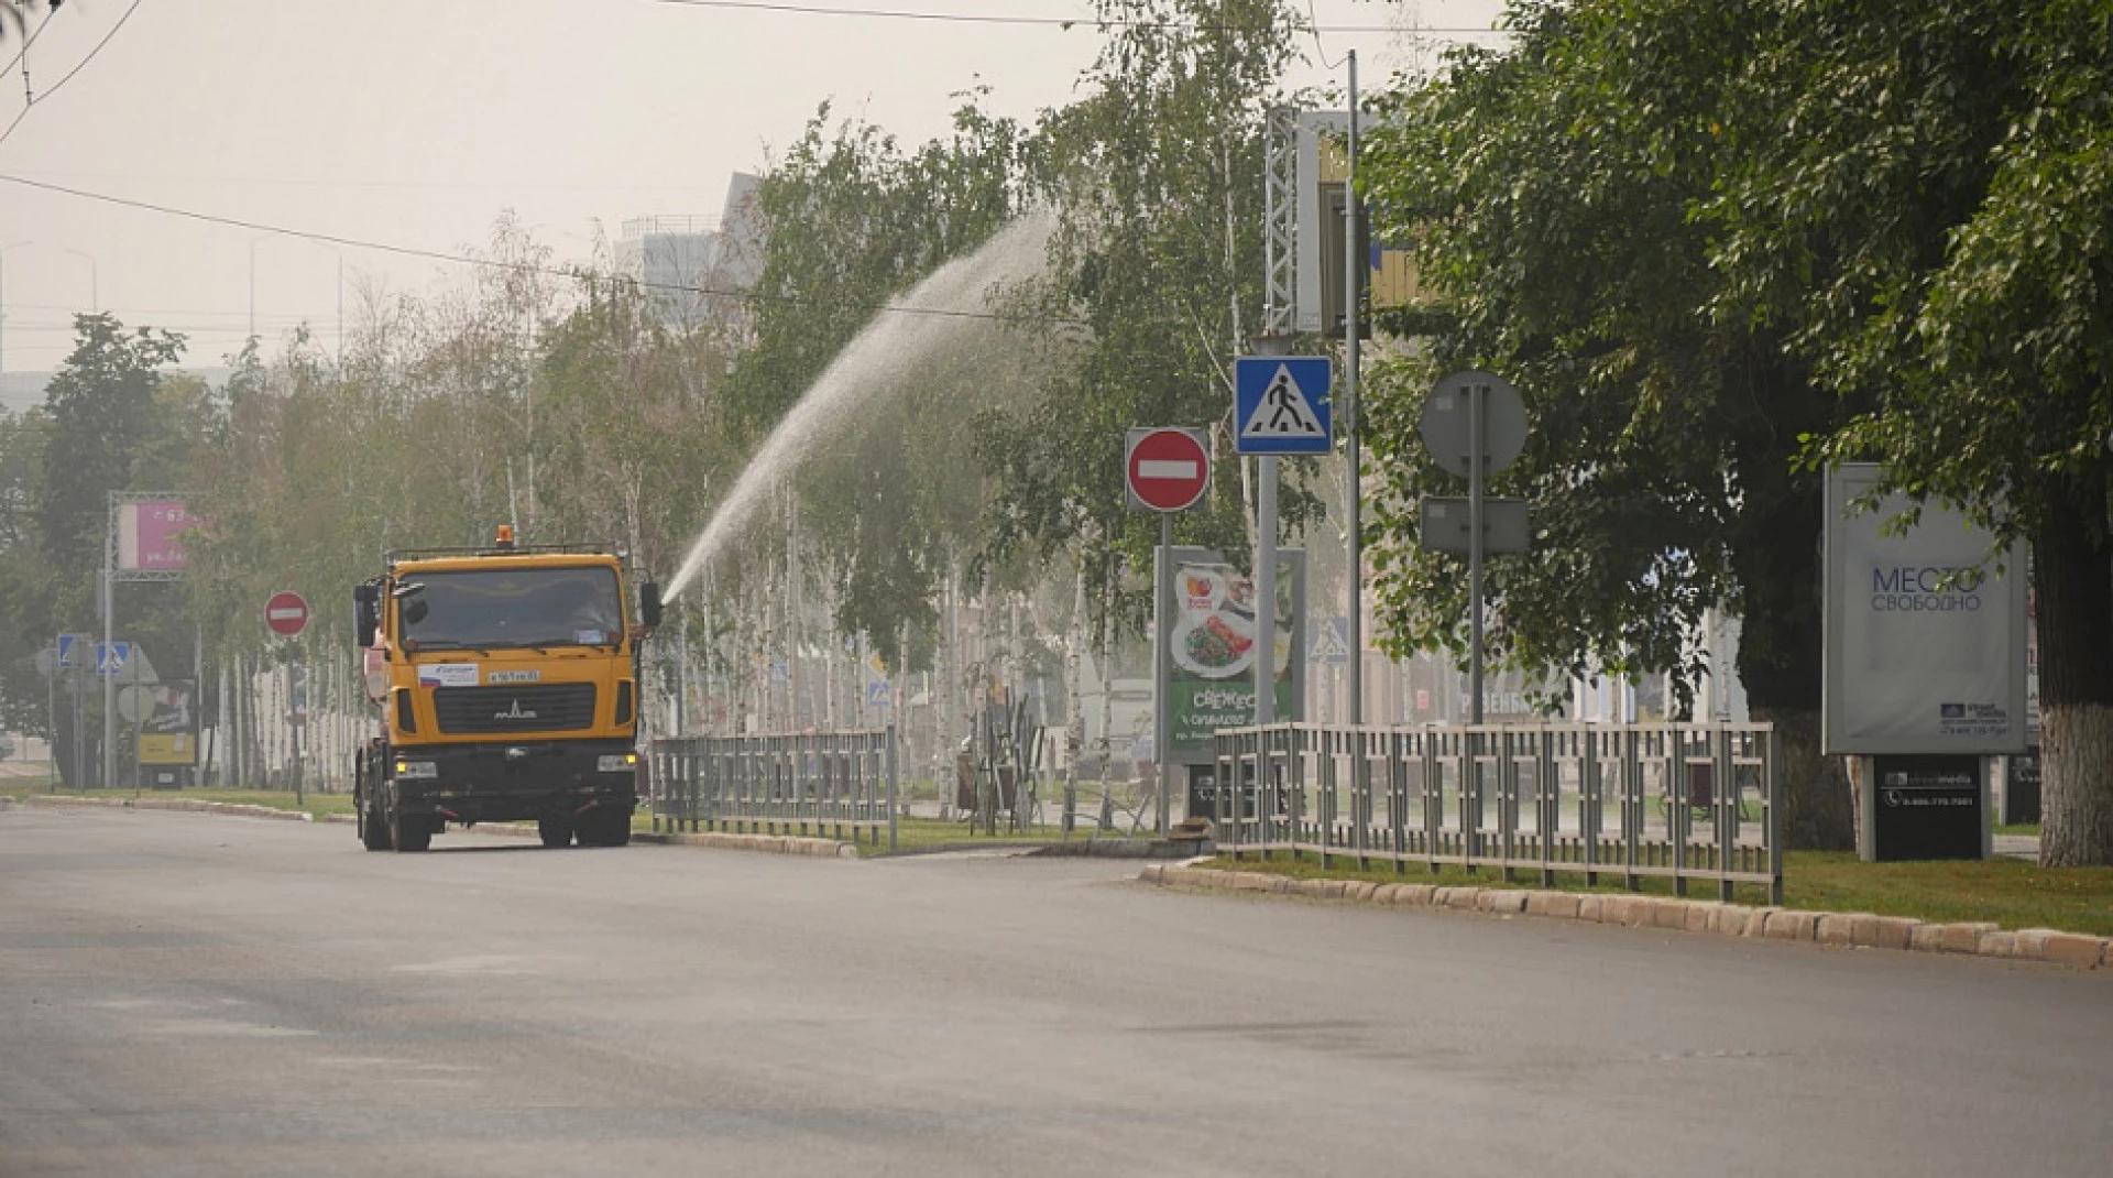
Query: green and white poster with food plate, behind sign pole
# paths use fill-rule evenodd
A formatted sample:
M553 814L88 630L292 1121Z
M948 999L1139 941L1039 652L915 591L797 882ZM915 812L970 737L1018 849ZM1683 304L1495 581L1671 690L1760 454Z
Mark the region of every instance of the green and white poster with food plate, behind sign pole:
M1304 719L1306 552L1278 550L1276 719ZM1211 763L1219 728L1255 723L1255 582L1207 548L1173 550L1168 628L1171 753L1177 763Z

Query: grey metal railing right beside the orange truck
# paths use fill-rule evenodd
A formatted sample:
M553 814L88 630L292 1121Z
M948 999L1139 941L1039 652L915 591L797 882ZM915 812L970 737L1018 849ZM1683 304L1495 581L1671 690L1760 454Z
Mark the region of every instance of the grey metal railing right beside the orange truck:
M849 838L896 848L896 730L674 736L651 749L655 831Z

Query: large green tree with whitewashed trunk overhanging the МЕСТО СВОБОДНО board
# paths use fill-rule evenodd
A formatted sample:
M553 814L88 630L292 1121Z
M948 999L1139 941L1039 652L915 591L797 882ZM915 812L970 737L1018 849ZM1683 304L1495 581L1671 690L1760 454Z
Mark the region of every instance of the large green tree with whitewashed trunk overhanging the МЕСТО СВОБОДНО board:
M2113 6L1775 4L1703 207L1728 313L1866 402L1817 459L2031 541L2045 865L2113 863Z

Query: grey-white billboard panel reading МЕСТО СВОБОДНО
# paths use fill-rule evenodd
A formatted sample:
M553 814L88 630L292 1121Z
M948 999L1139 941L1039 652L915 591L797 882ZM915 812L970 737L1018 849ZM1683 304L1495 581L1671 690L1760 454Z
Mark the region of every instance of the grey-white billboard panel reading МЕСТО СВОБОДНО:
M1878 480L1872 463L1828 474L1821 749L1826 753L2022 753L2024 546L1965 516L1912 503L1853 503Z

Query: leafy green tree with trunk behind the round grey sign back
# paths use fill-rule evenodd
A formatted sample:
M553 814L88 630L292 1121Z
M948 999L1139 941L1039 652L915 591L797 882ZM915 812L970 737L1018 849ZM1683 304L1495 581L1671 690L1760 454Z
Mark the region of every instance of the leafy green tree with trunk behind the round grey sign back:
M1380 611L1397 651L1462 649L1460 560L1418 548L1418 499L1460 484L1424 455L1431 381L1481 366L1528 398L1523 459L1494 491L1536 512L1490 563L1494 649L1526 668L1701 670L1703 611L1743 618L1739 675L1785 736L1792 846L1849 846L1849 793L1817 751L1819 476L1798 438L1838 406L1771 321L1716 315L1716 231L1690 218L1737 165L1726 87L1747 4L1528 2L1504 51L1462 49L1384 102L1365 176L1376 233L1407 239L1428 351L1376 374L1367 427Z

